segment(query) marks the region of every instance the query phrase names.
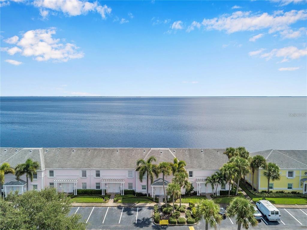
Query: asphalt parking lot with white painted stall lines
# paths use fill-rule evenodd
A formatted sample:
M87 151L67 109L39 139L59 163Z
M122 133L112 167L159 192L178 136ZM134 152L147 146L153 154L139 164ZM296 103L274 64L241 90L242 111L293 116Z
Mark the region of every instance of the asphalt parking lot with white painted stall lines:
M259 221L255 229L307 229L307 209L279 209L281 221ZM152 221L152 207L72 207L69 215L79 214L87 222L88 230L100 229L186 229L188 226L157 226ZM205 228L204 220L193 226L195 230ZM210 228L211 229L211 228ZM213 228L212 228L213 229ZM237 229L234 218L221 220L217 229ZM243 228L241 228L243 229Z

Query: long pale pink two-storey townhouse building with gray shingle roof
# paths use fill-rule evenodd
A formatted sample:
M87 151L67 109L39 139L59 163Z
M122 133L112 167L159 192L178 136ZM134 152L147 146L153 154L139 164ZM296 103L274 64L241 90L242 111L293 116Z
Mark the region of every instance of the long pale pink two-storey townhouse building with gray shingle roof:
M125 189L146 193L146 176L142 182L135 171L136 162L154 156L160 162L173 162L174 158L186 162L189 181L197 195L212 193L205 179L228 162L225 149L196 148L0 148L0 162L16 167L31 158L40 164L29 190L54 187L59 192L77 194L77 189L99 189L101 193L121 193ZM165 177L165 185L172 181ZM151 184L151 196L163 195L162 174ZM26 176L18 180L13 174L5 175L3 192L26 191ZM218 191L228 190L228 185L219 185ZM185 191L182 190L184 193Z

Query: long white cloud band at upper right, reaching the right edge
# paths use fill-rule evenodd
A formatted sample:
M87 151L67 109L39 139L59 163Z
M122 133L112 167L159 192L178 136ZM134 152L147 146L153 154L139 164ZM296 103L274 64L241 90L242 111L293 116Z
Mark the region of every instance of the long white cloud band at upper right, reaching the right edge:
M205 29L226 30L227 33L238 31L254 31L258 29L269 29L274 33L287 29L289 25L307 18L307 10L291 10L285 13L276 14L251 14L251 11L236 11L223 14L219 18L204 19L202 24Z

